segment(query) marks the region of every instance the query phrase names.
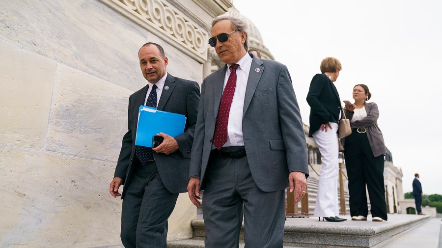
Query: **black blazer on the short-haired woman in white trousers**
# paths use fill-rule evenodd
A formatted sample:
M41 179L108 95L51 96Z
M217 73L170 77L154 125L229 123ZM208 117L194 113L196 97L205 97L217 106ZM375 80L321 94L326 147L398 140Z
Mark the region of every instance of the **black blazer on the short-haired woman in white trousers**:
M310 131L308 137L319 130L321 124L339 122L341 100L334 83L325 74L316 74L307 94L310 105Z

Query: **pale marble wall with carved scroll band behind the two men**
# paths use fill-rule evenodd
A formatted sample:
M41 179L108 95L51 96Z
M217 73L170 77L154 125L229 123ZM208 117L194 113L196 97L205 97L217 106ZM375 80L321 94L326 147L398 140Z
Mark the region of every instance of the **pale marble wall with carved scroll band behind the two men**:
M198 83L207 56L207 48L196 51L189 38L180 44L173 31L143 24L136 14L125 12L124 2L156 6L146 13L168 8L203 36L209 26L201 20L211 21L225 12L220 6L229 3L20 0L1 4L1 248L121 244L121 199L111 197L109 183L127 131L129 95L146 83L138 49L147 41L163 45L168 72ZM200 4L204 2L216 7ZM192 9L200 17L197 21ZM169 219L168 238L191 237L190 221L195 217L187 193L180 195Z

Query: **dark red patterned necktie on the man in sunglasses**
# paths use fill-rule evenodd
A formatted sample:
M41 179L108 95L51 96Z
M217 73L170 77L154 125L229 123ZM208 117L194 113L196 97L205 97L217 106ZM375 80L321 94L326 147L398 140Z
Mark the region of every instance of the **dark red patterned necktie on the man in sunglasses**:
M220 150L222 145L227 141L227 123L229 121L230 106L232 105L233 94L236 87L236 68L238 64L230 66L230 75L222 92L220 109L218 110L217 124L215 126L215 134L213 136L213 144Z

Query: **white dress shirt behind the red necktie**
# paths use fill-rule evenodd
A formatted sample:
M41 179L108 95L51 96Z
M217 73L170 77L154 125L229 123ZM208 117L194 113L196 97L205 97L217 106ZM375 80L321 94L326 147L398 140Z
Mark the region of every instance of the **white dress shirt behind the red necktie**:
M236 68L236 87L235 93L233 94L232 105L230 106L229 121L227 123L227 142L225 142L223 147L244 145L243 109L251 61L252 58L246 53L237 63L239 66ZM230 76L230 66L229 64L227 65L225 72L223 91Z

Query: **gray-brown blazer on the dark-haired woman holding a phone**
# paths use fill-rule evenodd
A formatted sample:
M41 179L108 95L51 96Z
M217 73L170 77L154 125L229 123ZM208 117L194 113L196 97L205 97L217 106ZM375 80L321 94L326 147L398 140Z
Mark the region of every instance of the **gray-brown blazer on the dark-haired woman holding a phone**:
M382 136L381 129L379 129L377 120L379 118L379 110L378 105L375 103L365 103L364 105L365 111L367 112L367 116L362 120L358 120L355 122L350 122L350 126L352 129L365 127L367 129L367 138L370 143L371 151L373 152L373 156L378 157L386 154L384 137ZM353 118L353 113L344 108L345 115L348 119ZM342 140L345 148L345 138Z

